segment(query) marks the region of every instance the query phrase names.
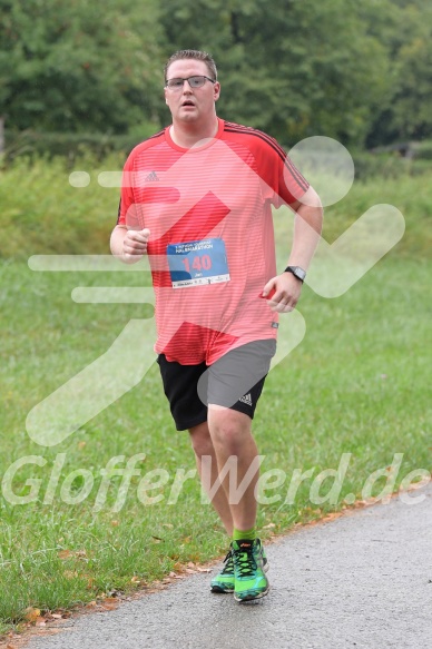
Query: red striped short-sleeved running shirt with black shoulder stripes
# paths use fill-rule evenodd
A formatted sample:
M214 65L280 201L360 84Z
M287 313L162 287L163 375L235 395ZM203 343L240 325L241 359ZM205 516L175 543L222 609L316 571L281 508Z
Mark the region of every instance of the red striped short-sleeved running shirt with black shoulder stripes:
M149 228L155 351L184 365L275 338L259 298L276 275L272 206L308 188L272 137L222 119L215 138L183 149L169 127L138 145L122 175L118 225Z

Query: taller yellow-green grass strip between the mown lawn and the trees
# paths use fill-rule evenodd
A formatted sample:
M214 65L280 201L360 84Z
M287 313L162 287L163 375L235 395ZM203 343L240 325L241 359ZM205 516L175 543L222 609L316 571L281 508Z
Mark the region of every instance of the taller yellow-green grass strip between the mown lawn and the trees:
M0 257L27 259L32 254L107 254L117 218L118 188L100 187L100 171L121 170L124 156L104 163L91 155L68 165L62 158L17 158L0 168L2 238ZM69 184L71 171L90 176L87 187ZM324 234L336 238L348 224L377 203L390 203L405 216L409 228L399 245L401 255L428 255L432 246L431 171L397 179L355 181L343 200L326 208ZM23 186L26 190L23 190Z

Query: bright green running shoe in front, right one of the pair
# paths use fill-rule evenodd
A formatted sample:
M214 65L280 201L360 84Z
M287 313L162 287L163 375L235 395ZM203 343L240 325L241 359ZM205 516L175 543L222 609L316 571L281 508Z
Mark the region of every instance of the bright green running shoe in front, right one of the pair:
M264 561L264 549L259 539L233 541L234 599L238 602L259 599L269 590L264 572L268 569Z

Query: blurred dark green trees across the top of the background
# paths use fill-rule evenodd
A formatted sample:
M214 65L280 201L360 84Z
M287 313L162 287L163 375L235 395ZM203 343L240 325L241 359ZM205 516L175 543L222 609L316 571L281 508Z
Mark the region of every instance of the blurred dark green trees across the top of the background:
M219 114L285 145L432 136L430 0L0 0L0 12L9 129L139 137L169 120L164 60L195 48L218 63Z

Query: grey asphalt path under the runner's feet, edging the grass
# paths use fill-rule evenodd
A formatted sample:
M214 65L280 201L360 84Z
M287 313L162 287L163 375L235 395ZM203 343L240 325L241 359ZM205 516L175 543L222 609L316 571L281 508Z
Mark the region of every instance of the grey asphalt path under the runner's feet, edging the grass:
M71 618L26 649L432 647L432 485L267 547L269 594L238 604L208 574Z

